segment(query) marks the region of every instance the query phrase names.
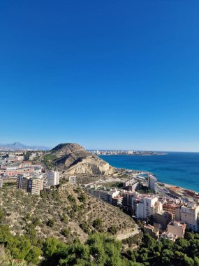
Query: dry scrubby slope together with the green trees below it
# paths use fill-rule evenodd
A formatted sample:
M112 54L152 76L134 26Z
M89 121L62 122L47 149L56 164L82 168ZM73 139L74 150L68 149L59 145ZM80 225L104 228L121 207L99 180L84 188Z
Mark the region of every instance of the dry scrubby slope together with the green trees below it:
M41 197L3 188L0 204L2 266L199 266L198 233L118 241L133 232L132 218L68 183Z

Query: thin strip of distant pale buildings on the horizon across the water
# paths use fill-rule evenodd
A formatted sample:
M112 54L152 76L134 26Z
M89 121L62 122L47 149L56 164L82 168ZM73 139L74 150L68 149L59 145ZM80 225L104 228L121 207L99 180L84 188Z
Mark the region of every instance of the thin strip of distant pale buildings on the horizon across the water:
M89 150L90 153L95 155L167 155L164 152L157 152L157 151L104 151L104 150Z

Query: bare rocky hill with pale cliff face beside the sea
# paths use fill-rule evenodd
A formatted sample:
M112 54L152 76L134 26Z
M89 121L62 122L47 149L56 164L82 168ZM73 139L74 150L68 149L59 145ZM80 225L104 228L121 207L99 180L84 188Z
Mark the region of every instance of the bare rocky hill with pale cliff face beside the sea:
M57 156L55 164L69 174L112 174L115 172L108 162L84 150L78 144L59 144L52 149Z

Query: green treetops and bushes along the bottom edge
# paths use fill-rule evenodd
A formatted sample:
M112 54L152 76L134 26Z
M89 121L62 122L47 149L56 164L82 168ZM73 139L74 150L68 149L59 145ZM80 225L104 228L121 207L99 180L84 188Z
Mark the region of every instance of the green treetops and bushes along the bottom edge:
M156 241L142 237L137 251L122 249L121 241L104 233L94 233L85 243L79 239L64 243L54 237L40 240L29 228L25 235L10 233L7 225L0 226L0 265L199 265L199 234L186 232L175 243L168 239Z

